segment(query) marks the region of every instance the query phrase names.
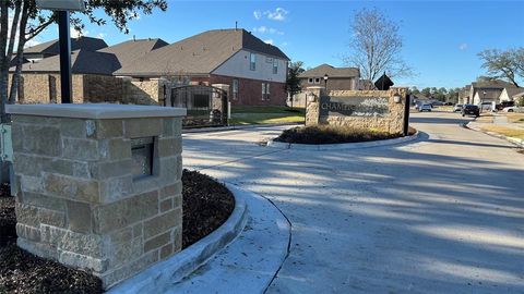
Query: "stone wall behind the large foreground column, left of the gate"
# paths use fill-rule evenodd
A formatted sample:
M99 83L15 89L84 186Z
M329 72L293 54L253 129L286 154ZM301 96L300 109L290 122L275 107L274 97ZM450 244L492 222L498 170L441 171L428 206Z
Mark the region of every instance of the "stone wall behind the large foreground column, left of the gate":
M10 81L11 81L10 75ZM132 81L129 77L74 74L73 102L117 102L124 105L164 105L167 81ZM61 101L59 74L23 74L19 87L19 103L56 103Z

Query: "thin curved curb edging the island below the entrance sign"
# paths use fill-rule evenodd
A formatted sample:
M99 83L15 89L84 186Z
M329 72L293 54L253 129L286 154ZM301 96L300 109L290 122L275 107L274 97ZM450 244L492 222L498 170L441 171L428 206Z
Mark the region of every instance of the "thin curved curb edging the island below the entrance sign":
M296 150L310 150L310 151L331 151L331 150L348 150L348 149L359 149L359 148L371 148L371 147L381 147L396 145L401 143L407 143L418 139L420 133L417 131L414 135L407 137L392 138L392 139L382 139L382 140L372 140L372 142L360 142L360 143L343 143L343 144L294 144L294 143L283 143L270 140L267 142L267 147L271 148L281 148L281 149L296 149Z

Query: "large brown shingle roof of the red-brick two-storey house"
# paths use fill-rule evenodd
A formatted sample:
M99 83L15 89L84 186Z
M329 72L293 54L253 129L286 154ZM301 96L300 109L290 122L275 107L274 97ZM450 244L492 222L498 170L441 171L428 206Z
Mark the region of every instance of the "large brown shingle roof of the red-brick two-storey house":
M209 74L241 49L289 60L277 47L245 29L215 29L156 49L115 74Z

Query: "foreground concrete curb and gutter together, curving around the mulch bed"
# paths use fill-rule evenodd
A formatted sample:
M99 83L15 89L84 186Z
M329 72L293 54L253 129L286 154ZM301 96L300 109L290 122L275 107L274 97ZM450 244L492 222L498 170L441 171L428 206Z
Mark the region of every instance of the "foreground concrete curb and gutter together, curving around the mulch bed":
M226 186L236 205L221 228L108 293L263 293L287 257L290 224L265 198Z

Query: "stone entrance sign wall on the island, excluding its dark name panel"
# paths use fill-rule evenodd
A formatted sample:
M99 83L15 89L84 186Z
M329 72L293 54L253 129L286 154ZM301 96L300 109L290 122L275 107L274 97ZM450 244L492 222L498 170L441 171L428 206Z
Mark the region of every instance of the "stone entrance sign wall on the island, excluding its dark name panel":
M388 113L380 115L322 115L321 97L324 96L323 88L308 88L315 97L314 101L307 102L306 124L327 124L337 126L350 126L358 128L373 128L389 133L402 133L404 127L404 108L406 102L407 88L391 88L390 90L331 90L329 97L359 98L359 97L383 97L386 98ZM321 93L322 91L322 93ZM401 97L401 102L394 101L394 96Z

